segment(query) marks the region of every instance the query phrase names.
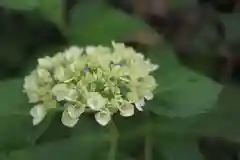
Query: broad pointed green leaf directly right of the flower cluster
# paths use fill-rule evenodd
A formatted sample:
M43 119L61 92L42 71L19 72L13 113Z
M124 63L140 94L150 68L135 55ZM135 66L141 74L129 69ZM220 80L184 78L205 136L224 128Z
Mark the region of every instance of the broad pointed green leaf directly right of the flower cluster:
M168 117L189 117L215 106L220 84L178 64L171 47L162 46L150 54L160 68L154 73L159 87L148 109Z

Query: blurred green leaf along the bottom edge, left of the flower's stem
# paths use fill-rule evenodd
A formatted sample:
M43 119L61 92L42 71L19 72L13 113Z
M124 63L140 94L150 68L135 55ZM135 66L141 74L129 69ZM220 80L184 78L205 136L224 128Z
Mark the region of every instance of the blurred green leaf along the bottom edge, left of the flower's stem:
M32 147L29 149L13 152L10 154L11 160L79 160L91 159L102 147L101 140L98 139L68 139L49 144Z

